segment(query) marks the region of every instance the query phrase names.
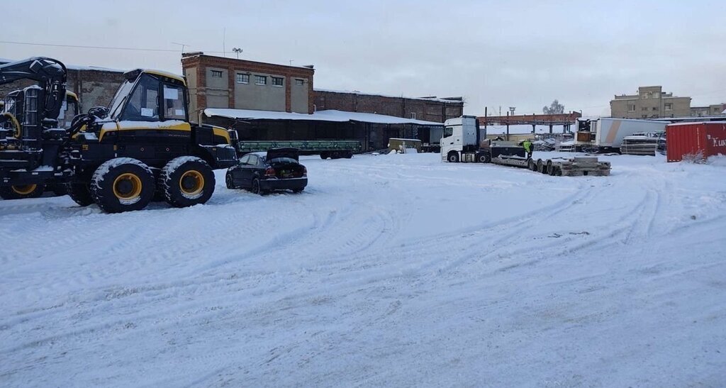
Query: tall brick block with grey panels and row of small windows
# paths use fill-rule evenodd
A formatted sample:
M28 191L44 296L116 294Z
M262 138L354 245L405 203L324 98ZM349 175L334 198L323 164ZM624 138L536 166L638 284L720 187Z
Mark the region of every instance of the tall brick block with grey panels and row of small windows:
M274 65L191 52L182 54L181 70L189 85L191 117L205 108L313 113L312 65Z

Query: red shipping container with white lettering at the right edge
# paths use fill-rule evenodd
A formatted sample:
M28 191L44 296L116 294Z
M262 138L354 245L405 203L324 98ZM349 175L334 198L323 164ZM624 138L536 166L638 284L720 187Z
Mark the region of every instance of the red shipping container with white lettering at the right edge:
M726 121L669 124L666 152L668 161L726 155Z

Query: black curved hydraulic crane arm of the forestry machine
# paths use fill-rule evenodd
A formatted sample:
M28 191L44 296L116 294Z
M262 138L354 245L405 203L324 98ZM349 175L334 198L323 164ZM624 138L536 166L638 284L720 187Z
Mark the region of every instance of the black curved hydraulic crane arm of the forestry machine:
M58 60L46 57L33 57L27 60L0 65L0 85L30 79L38 82L45 91L42 106L38 107L39 121L55 120L65 100L67 71Z

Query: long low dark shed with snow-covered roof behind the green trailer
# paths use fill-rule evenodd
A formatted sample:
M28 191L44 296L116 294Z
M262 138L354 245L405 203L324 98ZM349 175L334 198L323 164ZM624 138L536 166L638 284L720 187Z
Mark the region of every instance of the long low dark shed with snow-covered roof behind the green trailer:
M320 110L312 114L207 108L202 121L234 126L241 141L358 140L364 152L388 147L391 137L428 142L443 124L375 113Z

